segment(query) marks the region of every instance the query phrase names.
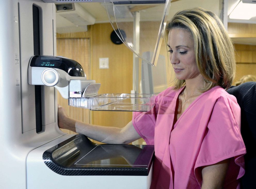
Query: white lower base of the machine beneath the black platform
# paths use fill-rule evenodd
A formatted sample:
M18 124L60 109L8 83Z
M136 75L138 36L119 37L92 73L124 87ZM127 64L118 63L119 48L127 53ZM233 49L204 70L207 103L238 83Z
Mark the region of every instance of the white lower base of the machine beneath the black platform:
M148 176L125 176L125 175L87 175L87 176L63 176L53 172L39 158L43 152L62 141L70 138L70 135L62 136L29 153L27 157L27 189L45 188L85 188L85 189L149 189L153 168Z

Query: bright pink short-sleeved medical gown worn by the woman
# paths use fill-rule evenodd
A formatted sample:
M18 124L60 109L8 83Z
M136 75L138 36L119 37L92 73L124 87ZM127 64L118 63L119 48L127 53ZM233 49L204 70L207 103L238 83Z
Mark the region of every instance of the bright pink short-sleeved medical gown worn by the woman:
M148 145L155 145L150 188L197 189L202 166L230 158L224 188L240 188L245 145L236 98L216 86L202 93L174 123L179 90L168 88L149 112L134 112L133 126Z

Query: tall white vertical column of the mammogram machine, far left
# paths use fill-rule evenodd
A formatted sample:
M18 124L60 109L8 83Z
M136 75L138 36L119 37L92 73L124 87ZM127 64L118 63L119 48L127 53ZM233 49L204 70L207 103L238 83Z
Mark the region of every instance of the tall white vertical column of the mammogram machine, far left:
M28 154L65 133L57 125L57 93L41 87L40 132L36 132L35 86L28 84L28 63L34 55L33 5L42 14L40 51L56 52L55 5L35 0L1 1L0 6L0 188L27 188ZM39 159L38 159L39 160ZM39 170L38 170L39 171Z

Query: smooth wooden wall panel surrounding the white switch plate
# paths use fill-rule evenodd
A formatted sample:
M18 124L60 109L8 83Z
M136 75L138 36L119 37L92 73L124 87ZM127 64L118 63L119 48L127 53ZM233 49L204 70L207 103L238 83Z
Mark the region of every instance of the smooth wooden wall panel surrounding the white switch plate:
M101 83L103 93L130 93L132 90L133 54L124 45L111 42L110 23L92 26L92 78ZM99 58L109 58L109 69L99 69ZM132 120L132 112L93 111L95 125L124 127Z

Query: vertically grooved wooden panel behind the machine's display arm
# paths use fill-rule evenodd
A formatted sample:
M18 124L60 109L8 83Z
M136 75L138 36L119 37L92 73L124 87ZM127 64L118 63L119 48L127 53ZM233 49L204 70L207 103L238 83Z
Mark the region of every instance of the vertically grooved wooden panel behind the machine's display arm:
M57 56L65 56L80 63L84 69L87 79L90 79L90 40L89 39L57 39ZM89 110L68 106L68 100L63 99L58 92L58 104L63 106L69 117L90 122ZM65 133L74 134L69 130Z

